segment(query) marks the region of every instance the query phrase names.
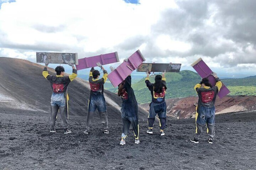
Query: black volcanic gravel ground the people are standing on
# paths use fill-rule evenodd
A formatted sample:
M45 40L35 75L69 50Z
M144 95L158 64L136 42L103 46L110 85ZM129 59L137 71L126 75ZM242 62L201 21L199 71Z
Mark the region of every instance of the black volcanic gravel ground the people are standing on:
M256 113L216 116L216 137L199 144L192 136L194 119L169 120L165 136L158 123L146 134L140 123L140 144L130 130L126 145L119 145L120 120L109 120L110 133L103 134L95 118L91 133L83 134L85 117L70 116L71 134L63 134L60 116L56 133L49 133L49 115L41 112L0 108L0 169L256 169Z

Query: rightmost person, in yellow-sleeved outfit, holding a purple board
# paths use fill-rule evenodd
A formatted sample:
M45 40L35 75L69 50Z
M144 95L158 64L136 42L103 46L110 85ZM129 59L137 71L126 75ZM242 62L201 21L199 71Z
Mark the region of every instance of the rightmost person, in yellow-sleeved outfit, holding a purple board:
M216 80L216 85L212 86L208 78L203 78L202 81L195 85L194 89L198 95L198 105L196 108L196 133L191 142L199 143L200 134L203 127L207 126L207 134L209 136L208 143L213 144L213 137L215 136L215 100L217 94L222 87L222 82L216 73L212 73Z

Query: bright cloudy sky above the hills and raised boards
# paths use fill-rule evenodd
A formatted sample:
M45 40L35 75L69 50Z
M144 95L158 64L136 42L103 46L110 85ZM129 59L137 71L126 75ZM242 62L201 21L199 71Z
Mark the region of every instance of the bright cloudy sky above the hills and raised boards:
M219 77L256 75L255 0L0 0L0 57L138 49L147 63L202 58ZM120 63L114 64L118 66Z

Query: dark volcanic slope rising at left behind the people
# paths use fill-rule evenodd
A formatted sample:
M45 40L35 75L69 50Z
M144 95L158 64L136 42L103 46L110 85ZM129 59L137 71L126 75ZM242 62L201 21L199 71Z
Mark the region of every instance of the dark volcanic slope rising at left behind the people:
M42 76L43 67L23 59L0 57L0 107L49 113L52 90L49 81ZM55 70L49 67L48 73L56 75ZM68 94L69 114L86 116L90 95L88 81L75 78L69 84ZM120 97L107 90L104 90L104 95L108 118L121 119L122 100ZM99 117L98 111L94 116ZM147 116L148 112L139 107L140 120L146 120Z

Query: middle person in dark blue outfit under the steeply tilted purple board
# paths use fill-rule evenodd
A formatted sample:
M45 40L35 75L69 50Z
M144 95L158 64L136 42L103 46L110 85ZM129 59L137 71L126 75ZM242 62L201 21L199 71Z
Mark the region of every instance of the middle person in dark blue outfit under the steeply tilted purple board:
M125 59L124 61L128 61ZM114 70L110 66L110 70ZM135 144L139 144L139 114L138 114L138 103L134 95L133 88L131 87L131 75L127 76L126 79L118 85L118 96L122 99L121 106L121 117L123 121L123 131L121 135L120 145L124 145L126 136L129 132L130 125L133 127L135 136Z

